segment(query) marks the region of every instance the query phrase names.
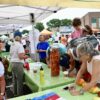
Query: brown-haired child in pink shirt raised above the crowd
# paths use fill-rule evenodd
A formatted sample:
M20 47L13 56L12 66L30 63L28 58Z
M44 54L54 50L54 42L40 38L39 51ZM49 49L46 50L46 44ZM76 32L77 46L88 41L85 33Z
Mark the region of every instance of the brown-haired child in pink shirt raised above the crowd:
M81 19L80 18L74 18L72 25L74 27L74 32L71 34L71 38L79 38L82 35L82 28L81 28Z

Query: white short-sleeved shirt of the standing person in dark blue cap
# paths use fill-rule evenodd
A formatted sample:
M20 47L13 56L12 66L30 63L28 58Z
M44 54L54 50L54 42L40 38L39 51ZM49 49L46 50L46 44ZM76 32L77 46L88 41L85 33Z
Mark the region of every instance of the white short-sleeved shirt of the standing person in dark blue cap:
M24 63L24 60L21 60L18 55L19 53L25 53L23 45L20 42L15 41L10 48L10 56L11 56L11 62L22 62Z

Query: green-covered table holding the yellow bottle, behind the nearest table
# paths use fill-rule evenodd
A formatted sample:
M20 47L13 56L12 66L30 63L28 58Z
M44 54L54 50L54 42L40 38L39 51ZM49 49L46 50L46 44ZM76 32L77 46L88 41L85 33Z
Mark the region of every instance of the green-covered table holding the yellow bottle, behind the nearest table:
M68 78L64 77L64 74L62 71L60 71L60 75L57 77L52 77L51 76L51 71L50 68L47 67L47 65L42 64L42 67L44 69L44 83L40 83L40 68L37 67L37 73L34 73L34 69L32 68L35 65L35 63L30 64L30 70L24 70L25 73L25 83L29 86L29 88L33 92L37 91L43 91L59 86L63 86L66 84L70 84L74 82L74 78ZM41 66L41 65L40 65Z

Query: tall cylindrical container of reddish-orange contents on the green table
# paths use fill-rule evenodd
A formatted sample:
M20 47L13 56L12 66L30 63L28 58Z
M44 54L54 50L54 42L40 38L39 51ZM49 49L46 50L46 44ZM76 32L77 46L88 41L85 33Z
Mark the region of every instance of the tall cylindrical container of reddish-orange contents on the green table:
M52 48L50 50L51 76L58 76L60 73L59 58L58 48Z

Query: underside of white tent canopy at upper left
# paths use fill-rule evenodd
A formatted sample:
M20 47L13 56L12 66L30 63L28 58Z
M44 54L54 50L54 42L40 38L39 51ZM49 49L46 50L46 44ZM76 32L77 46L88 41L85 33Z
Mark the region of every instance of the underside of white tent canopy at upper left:
M35 22L39 22L60 9L61 7L0 5L0 31L30 25L30 13L34 13Z

